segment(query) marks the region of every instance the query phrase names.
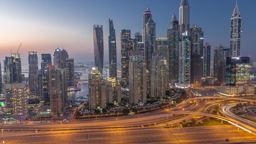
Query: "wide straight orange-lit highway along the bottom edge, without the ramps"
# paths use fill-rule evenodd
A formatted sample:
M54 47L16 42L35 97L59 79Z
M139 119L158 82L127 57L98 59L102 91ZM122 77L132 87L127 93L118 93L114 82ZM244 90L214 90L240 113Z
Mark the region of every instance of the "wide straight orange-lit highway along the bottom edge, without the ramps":
M5 143L225 143L256 142L256 137L233 125L213 127L133 128L91 131L52 131L4 136Z

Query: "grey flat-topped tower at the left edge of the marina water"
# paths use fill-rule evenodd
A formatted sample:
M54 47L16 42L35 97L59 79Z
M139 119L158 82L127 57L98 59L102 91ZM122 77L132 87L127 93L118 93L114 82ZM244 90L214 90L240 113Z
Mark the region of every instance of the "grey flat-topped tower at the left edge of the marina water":
M75 85L75 64L74 59L66 59L66 68L67 68L67 86Z

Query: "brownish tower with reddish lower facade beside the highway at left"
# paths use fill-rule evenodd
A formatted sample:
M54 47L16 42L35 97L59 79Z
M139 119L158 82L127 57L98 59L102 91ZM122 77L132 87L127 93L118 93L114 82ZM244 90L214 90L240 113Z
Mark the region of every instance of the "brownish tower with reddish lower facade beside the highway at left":
M67 106L66 68L58 69L57 65L48 65L50 110L53 117L63 116Z

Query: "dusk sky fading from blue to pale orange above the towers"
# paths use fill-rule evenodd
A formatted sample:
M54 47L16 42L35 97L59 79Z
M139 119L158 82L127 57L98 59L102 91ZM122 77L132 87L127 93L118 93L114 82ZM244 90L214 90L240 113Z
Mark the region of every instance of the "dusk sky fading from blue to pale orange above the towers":
M204 42L230 47L230 18L236 0L189 0L190 26L199 25ZM255 0L239 0L242 15L241 55L256 56ZM150 8L156 37L166 37L172 14L178 15L180 0L0 0L0 60L19 51L22 64L28 52L51 53L65 48L77 62L94 62L93 25L103 25L104 59L108 62L108 19L114 22L117 60L120 62L120 30L142 33L142 15Z

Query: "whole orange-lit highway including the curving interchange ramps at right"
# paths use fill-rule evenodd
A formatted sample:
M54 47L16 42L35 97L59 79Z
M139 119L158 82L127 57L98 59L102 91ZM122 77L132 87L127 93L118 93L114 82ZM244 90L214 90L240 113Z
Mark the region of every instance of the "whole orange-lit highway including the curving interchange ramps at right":
M230 97L188 98L170 109L138 115L63 123L0 125L0 129L4 132L2 139L5 143L225 143L227 138L230 142L256 143L256 124L230 112L234 100L235 103L254 102ZM206 113L207 109L218 104L221 104L219 110L223 116ZM177 124L195 115L218 118L231 125L163 128L163 122ZM11 134L14 130L33 130L36 133Z

